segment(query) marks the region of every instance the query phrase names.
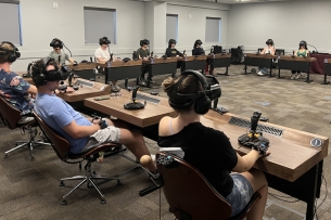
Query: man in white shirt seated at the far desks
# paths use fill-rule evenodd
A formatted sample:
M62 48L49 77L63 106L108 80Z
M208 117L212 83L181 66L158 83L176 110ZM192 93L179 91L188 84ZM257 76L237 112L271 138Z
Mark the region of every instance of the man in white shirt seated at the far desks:
M107 37L103 37L99 39L100 48L98 48L94 52L94 57L97 63L105 64L111 61L112 51L110 49L111 40ZM112 60L114 61L114 59ZM112 92L118 92L120 87L117 86L117 81L112 81Z

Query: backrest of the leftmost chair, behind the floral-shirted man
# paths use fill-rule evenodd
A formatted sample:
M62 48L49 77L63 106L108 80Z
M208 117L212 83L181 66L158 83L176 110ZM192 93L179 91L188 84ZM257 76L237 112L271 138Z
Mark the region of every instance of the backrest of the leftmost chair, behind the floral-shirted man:
M17 128L17 122L22 118L22 115L20 109L0 95L0 117L5 127L15 129Z

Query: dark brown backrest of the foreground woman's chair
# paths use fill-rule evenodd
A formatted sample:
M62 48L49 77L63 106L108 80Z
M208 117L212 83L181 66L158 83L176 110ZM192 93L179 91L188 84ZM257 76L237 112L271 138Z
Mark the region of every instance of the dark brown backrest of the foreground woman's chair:
M226 220L230 217L230 204L199 170L165 152L157 153L156 158L165 197L179 220Z

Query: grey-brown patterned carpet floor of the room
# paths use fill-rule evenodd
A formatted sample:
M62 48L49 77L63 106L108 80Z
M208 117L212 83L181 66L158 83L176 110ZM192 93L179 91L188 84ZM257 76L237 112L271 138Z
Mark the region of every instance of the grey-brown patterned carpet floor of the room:
M225 68L216 69L224 73ZM273 70L275 74L277 70ZM331 138L331 86L320 85L321 75L313 75L311 83L304 79L290 79L290 72L282 70L283 79L243 75L242 65L232 65L229 76L218 76L222 89L219 105L230 113L250 117L254 111L263 112L270 122ZM145 92L157 91L161 96L161 82L165 75L154 77L153 88ZM102 81L102 77L98 80ZM133 80L129 80L132 86ZM119 86L123 82L119 81ZM20 130L9 130L0 124L1 145L3 153L14 146L16 140L27 139ZM151 153L157 152L155 142L145 139ZM330 146L329 146L330 147ZM272 148L270 148L272 152ZM329 151L330 152L330 151ZM130 155L130 153L128 153ZM168 212L167 202L162 191L155 191L144 197L138 192L151 181L142 170L137 170L122 178L120 184L115 181L102 184L106 204L101 205L98 193L86 185L67 198L62 206L62 196L74 186L75 182L60 187L60 179L79 174L78 166L61 161L50 146L35 148L35 161L29 160L27 147L0 158L0 219L175 219ZM317 200L318 219L331 219L331 161L324 159L324 178L321 196ZM133 165L120 156L106 158L103 164L93 164L93 169L101 174L116 174ZM81 171L82 172L82 171ZM84 173L84 172L82 172ZM305 219L306 204L269 189L269 197L264 219L266 220L302 220ZM272 194L272 195L271 195ZM281 198L281 199L279 199Z

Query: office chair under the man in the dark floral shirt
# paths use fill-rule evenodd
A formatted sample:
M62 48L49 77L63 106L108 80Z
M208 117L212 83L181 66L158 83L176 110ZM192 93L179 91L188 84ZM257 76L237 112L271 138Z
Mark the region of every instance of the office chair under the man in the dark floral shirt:
M30 117L33 117L31 115L29 115ZM50 145L50 143L44 142L44 139L36 139L37 134L38 134L38 124L36 122L36 120L30 120L27 122L18 122L22 119L22 115L21 115L21 111L17 109L16 107L14 107L9 101L5 100L5 98L0 95L0 118L2 124L11 129L14 130L16 128L20 128L23 133L27 132L29 135L29 139L27 141L16 141L15 142L15 147L4 152L4 158L8 158L8 154L20 150L24 146L29 147L30 150L30 160L35 160L34 157L34 146L37 145Z

